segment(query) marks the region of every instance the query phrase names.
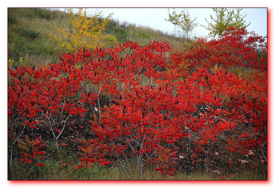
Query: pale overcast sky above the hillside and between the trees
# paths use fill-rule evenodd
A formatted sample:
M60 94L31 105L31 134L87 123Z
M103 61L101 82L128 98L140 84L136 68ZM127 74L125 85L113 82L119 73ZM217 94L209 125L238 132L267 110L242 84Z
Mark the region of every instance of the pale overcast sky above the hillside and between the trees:
M184 8L176 8L175 11L180 13ZM65 10L65 9L61 9ZM173 9L170 8L170 13ZM196 18L198 26L195 31L197 37L205 37L209 31L201 24L207 25L205 18L211 21L210 15L215 16L212 8L188 8L191 18ZM88 8L87 14L95 15L102 11L104 17L110 13L113 19L119 21L127 21L128 23L135 23L136 25L148 26L153 29L162 30L163 32L173 33L174 25L165 20L168 19L168 8ZM246 15L244 18L246 24L251 24L247 27L248 31L255 31L259 35L267 35L267 8L244 8L241 14Z

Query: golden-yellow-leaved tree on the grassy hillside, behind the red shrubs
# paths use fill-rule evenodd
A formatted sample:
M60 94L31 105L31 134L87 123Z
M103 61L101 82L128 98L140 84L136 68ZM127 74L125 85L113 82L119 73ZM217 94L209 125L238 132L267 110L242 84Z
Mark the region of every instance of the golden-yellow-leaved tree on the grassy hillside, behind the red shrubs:
M111 14L106 18L101 18L102 12L95 16L88 17L86 9L78 8L74 14L73 9L68 9L70 14L70 32L66 32L59 27L56 30L61 33L58 37L54 33L50 33L53 41L57 42L58 46L65 47L67 52L76 51L80 47L95 48L95 46L105 46L106 44L116 43L116 38L113 35L103 35L103 30L106 29L109 23Z

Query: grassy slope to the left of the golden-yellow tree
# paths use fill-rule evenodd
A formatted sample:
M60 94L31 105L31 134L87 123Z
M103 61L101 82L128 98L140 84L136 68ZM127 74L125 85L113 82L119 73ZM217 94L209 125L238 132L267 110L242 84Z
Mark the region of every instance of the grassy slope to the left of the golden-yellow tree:
M51 9L9 8L8 58L18 64L19 57L25 65L44 65L59 59L64 49L50 38L55 26L69 27L65 12Z

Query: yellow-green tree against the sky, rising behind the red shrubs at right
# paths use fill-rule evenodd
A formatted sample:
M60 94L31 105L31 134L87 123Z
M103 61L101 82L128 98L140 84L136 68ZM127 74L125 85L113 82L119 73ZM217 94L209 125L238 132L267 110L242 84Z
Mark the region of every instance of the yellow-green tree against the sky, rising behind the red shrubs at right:
M232 10L228 10L227 8L213 8L213 10L215 17L210 15L211 22L205 18L207 26L202 25L210 31L208 37L216 37L216 35L218 35L218 37L222 38L222 34L226 32L228 27L243 28L250 24L245 24L244 18L246 15L243 16L243 14L240 13L241 10L243 10L242 8Z

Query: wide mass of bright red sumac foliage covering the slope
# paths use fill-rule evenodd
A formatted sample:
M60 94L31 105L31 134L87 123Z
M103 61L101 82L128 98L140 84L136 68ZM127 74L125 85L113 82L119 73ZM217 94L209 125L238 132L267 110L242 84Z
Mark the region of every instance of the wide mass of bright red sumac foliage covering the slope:
M49 125L61 126L60 135L69 117L93 113L88 122L95 138L79 142L81 165L75 168L131 155L174 175L178 158L172 148L181 146L191 158L223 142L221 136L228 150L246 155L267 140L264 43L254 33L229 28L222 39L200 39L185 52L158 41L79 49L37 70L9 69L14 85L8 115L35 128L42 113ZM103 94L107 101L100 106ZM61 123L51 122L59 115ZM246 132L236 133L240 128Z

